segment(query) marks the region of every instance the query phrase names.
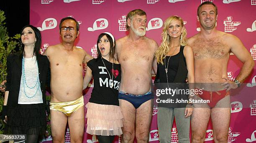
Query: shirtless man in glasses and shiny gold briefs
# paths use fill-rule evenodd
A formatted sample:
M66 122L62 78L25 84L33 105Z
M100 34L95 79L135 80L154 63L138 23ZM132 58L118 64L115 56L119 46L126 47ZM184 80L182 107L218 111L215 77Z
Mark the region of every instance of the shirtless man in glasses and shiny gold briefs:
M72 143L82 143L84 134L84 99L82 64L92 59L74 46L79 24L74 18L63 18L59 24L62 43L49 46L44 55L51 66L51 134L53 143L64 143L67 122Z

